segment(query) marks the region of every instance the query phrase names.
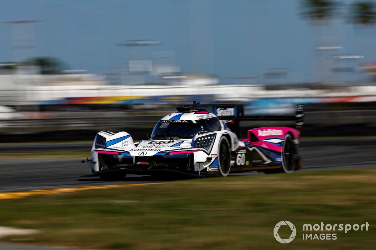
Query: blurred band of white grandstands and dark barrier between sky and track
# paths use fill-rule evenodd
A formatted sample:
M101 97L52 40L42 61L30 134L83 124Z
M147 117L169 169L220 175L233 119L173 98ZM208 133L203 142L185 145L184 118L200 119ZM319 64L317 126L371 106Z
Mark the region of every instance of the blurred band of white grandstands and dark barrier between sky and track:
M0 82L2 142L90 140L103 129L126 130L143 139L163 115L193 100L238 103L246 114L269 115L293 114L294 106L303 103L305 136L376 135L376 85L370 83L226 85L200 75L163 84L109 85L94 74L8 74L0 75Z

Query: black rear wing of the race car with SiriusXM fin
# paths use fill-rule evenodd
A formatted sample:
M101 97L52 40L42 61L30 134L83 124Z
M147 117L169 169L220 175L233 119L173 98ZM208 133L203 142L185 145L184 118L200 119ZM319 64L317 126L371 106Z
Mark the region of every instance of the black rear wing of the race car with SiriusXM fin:
M295 107L295 115L244 115L243 105L218 105L212 111L232 131L239 131L239 121L295 121L296 129L304 124L304 105Z

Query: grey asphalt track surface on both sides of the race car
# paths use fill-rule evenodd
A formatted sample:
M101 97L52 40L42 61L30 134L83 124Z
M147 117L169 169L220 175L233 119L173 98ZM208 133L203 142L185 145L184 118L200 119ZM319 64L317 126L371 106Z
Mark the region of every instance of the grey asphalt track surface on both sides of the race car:
M308 139L300 145L303 171L355 169L376 166L376 139ZM43 151L90 151L91 144L11 144L0 145L2 153ZM70 186L96 186L157 182L151 176L127 175L124 181L80 178L88 174L88 165L79 158L0 159L0 192ZM247 172L258 174L257 172ZM233 174L235 175L235 174ZM240 175L244 175L240 174Z

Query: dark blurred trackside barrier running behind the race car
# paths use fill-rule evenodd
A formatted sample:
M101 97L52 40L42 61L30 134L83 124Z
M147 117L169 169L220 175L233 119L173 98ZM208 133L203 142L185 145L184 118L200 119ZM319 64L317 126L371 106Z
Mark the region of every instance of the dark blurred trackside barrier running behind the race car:
M91 140L100 130L127 131L136 140L145 139L150 136L156 122L169 112L158 111L155 115L135 115L136 111L64 112L59 114L61 117L0 120L0 142ZM291 121L242 121L240 130L244 133L239 136L246 136L245 131L251 127L293 125ZM376 108L307 111L302 134L376 136Z

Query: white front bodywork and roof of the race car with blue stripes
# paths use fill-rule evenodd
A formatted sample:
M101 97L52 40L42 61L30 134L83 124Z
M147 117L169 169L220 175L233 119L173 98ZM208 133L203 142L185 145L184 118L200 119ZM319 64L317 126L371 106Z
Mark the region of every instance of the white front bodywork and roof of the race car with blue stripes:
M209 112L175 112L166 115L161 119L163 123L183 123L190 121L196 123L198 120L209 119L216 117ZM101 131L98 133L99 139L94 141L92 146L91 172L100 171L98 153L106 152L108 154L118 154L116 157L133 157L133 164L135 157L153 157L164 156L172 157L172 155L179 154L193 154L194 171L218 171L218 144L221 136L226 136L230 143L230 150L235 151L238 148L238 138L230 130L227 130L224 124L220 122L220 129L212 132L200 132L193 138L188 139L161 139L161 140L143 140L134 143L132 137L127 132L112 133L109 131ZM104 138L104 139L103 139ZM211 139L212 138L212 139ZM210 140L210 147L200 148L200 140ZM202 141L201 141L202 142ZM210 142L209 142L210 143ZM196 145L197 144L197 145ZM217 165L215 165L217 164Z

